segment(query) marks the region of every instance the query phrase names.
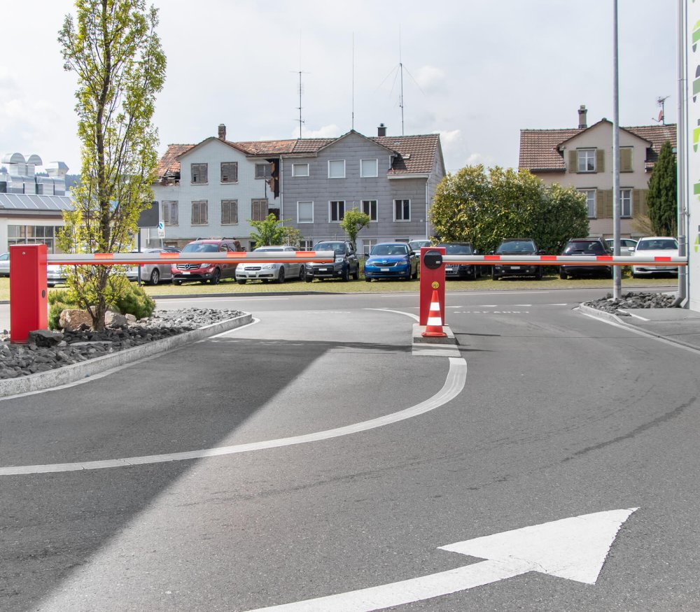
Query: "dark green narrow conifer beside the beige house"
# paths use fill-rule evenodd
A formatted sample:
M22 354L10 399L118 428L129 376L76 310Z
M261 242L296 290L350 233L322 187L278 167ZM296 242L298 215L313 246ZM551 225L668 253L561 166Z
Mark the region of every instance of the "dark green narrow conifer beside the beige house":
M657 236L675 236L678 233L678 190L675 154L671 143L661 145L659 158L649 178L649 219Z

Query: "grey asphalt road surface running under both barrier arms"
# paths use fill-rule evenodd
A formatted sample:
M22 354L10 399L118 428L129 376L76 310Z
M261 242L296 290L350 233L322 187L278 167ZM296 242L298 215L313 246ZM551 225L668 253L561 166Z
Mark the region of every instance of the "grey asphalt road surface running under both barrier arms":
M0 467L29 472L0 476L0 609L260 609L476 565L495 557L438 547L624 508L594 584L538 565L387 609L699 609L700 355L573 310L596 297L448 294L458 360L412 355L416 295L197 300L259 322L0 401Z

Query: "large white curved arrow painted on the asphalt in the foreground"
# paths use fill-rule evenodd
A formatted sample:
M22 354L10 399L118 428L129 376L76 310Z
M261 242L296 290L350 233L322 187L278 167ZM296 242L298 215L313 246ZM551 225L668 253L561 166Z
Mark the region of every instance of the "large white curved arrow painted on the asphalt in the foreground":
M595 584L615 536L637 508L563 518L440 546L486 559L438 574L250 612L370 612L539 571Z

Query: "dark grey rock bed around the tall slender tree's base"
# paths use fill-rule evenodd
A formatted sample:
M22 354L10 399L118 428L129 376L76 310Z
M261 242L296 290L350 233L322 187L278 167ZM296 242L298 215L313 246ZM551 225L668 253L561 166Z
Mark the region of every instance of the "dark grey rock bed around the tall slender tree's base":
M83 325L76 331L30 332L27 344L10 343L5 330L0 339L0 379L85 362L155 340L176 336L241 315L240 311L185 308L156 311L131 325L118 325L95 332Z

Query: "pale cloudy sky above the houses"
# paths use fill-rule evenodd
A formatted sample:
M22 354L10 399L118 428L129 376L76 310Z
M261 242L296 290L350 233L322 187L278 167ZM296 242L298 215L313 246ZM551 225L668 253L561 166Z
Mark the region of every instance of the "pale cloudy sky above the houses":
M582 104L589 125L612 120L614 3L155 0L168 64L158 153L221 123L230 141L297 138L301 71L304 137L376 136L384 123L388 136L439 133L447 171L517 167L520 129L577 127ZM618 0L623 127L655 124L659 97L676 122L676 10ZM76 79L57 43L69 13L69 0L3 10L0 154L79 173Z

